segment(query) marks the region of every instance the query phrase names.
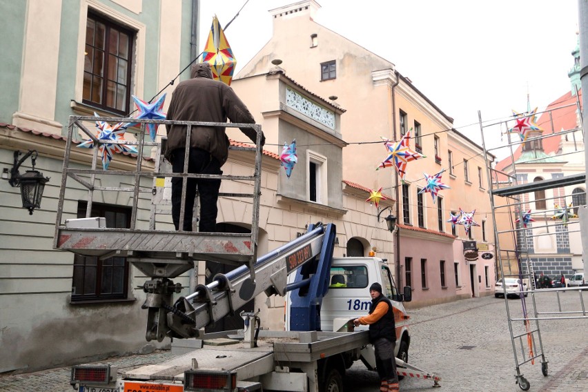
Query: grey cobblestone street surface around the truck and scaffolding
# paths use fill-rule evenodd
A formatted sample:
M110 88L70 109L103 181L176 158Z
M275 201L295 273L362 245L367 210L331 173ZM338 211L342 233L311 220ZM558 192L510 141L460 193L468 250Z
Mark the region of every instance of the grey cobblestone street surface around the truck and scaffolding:
M584 301L588 303L588 295ZM538 311L558 309L557 296L552 293L534 295ZM563 311L580 309L579 292L560 293ZM533 297L527 298L532 306ZM521 302L508 300L511 317L518 317ZM409 364L442 377L441 391L521 391L515 383L516 364L509 335L504 300L494 297L473 298L448 304L427 306L409 311L412 342ZM549 316L546 316L549 317ZM558 317L558 315L551 315ZM531 323L534 327L534 323ZM515 333L523 331L522 322L513 322ZM531 384L529 391L588 391L588 320L542 320L540 332L543 353L549 362L549 374L542 375L540 358L528 362L520 371ZM525 355L528 355L526 338ZM540 352L540 346L536 342ZM522 353L518 350L519 362ZM168 351L148 355L133 355L104 361L128 369L141 364L167 360ZM0 375L0 391L69 392L69 368L50 369L21 375ZM375 392L379 390L378 376L367 371L361 362L349 369L344 380L346 392ZM433 382L404 378L401 391L429 391ZM434 389L437 391L437 389Z

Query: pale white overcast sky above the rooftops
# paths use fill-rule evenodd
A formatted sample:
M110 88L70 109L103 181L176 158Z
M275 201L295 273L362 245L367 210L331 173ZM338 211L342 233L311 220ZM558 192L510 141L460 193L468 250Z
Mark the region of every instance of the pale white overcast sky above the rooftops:
M395 64L481 144L482 120L545 108L571 89L567 72L578 36L577 0L317 0L315 21ZM246 0L202 0L204 48L216 14L222 26ZM249 0L226 30L237 72L272 35L268 10L295 1ZM295 75L290 75L296 79ZM471 125L474 124L474 125ZM496 145L499 136L485 136ZM493 138L493 140L489 140Z

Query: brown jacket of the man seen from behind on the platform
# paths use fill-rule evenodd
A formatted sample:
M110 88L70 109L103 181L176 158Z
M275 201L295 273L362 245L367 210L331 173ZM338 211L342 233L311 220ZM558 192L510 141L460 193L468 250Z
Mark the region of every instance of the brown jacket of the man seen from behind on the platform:
M175 88L166 119L177 121L209 121L254 124L255 119L245 104L237 97L233 88L213 80L213 72L208 63L192 66L190 77ZM171 153L186 146L186 126L166 125L168 144L166 158L171 161ZM252 128L241 128L242 132L255 142L256 133ZM202 148L219 160L221 166L228 157L228 137L224 127L192 127L190 147Z

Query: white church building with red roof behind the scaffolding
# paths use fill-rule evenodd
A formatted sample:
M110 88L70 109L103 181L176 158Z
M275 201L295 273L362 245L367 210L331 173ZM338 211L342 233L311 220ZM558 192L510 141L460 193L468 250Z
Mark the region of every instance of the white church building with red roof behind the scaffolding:
M564 179L586 172L579 110L582 90L578 46L571 55L574 66L568 72L570 91L536 116L539 129L531 131L531 141L522 144L513 135L509 139L513 143L512 155L496 165L497 170L516 177L518 184ZM533 272L568 278L584 271L578 208L586 205L585 184L561 184L525 193L521 202L523 212L530 211L533 221L527 223L525 233L517 233L518 246L529 253ZM566 213L566 224L562 224L562 212Z

